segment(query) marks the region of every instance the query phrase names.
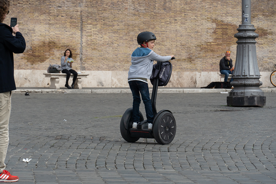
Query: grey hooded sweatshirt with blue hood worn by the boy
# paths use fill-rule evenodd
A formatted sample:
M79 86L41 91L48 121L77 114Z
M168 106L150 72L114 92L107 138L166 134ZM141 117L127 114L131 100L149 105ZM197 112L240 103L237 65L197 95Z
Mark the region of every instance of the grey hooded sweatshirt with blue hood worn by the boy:
M128 79L150 79L153 61L165 62L171 58L170 56L160 56L149 48L138 47L131 55L131 66L129 67Z

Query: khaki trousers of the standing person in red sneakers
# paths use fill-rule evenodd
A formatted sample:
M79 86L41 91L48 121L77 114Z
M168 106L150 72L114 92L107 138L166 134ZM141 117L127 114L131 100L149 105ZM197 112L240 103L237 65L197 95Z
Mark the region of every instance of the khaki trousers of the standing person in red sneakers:
M5 159L9 145L9 118L12 91L0 93L0 173L6 168Z

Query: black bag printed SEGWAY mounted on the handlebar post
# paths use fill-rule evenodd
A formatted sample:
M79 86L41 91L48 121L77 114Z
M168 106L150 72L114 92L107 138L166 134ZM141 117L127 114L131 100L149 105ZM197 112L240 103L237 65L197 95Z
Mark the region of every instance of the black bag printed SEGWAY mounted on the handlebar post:
M153 85L154 78L159 78L158 86L166 86L170 81L170 76L172 75L172 63L170 63L170 61L162 62L160 71L156 69L156 66L157 64L153 65L150 82Z

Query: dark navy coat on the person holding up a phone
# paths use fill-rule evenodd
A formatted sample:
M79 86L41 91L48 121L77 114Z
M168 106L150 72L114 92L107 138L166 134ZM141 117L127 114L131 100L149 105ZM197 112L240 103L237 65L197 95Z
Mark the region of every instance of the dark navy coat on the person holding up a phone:
M12 35L12 28L0 23L0 93L16 90L13 53L23 53L26 42L20 32Z

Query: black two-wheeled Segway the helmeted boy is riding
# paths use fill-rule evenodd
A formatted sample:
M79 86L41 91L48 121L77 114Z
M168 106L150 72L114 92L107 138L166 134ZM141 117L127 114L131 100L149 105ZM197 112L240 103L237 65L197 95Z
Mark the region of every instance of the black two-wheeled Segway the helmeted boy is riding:
M175 57L173 57L172 60L173 59L175 59ZM175 118L173 117L173 113L165 109L157 113L157 110L156 110L157 90L158 90L158 86L160 86L159 78L160 78L160 75L162 77L162 74L163 74L161 71L161 68L162 68L162 62L158 61L156 64L157 75L153 79L153 89L152 89L152 97L151 97L152 111L154 114L152 130L148 129L147 120L144 120L144 117L140 111L139 111L140 122L137 124L137 129L133 129L132 128L132 124L133 124L132 108L129 108L125 111L120 123L121 135L124 138L124 140L126 140L127 142L136 142L138 141L139 138L152 138L152 139L155 139L159 144L170 144L175 137L176 122L175 122ZM170 71L167 76L166 83L162 86L166 86L167 83L169 82L171 72L172 72L172 67L170 66Z

